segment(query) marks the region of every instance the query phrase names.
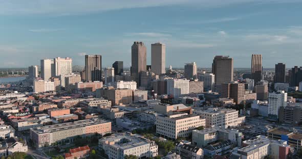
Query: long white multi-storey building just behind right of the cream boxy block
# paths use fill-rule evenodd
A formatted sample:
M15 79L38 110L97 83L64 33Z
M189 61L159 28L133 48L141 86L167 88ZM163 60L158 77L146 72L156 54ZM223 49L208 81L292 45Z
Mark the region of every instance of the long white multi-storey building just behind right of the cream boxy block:
M202 108L193 110L193 114L206 119L206 127L238 126L245 122L245 116L239 117L239 111L225 108Z

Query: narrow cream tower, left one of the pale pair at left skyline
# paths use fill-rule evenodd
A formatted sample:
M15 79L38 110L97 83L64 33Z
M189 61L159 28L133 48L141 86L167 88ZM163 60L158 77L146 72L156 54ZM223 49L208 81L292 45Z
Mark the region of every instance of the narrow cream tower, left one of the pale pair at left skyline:
M53 76L55 76L54 60L41 60L41 78L44 81L49 81L49 78Z

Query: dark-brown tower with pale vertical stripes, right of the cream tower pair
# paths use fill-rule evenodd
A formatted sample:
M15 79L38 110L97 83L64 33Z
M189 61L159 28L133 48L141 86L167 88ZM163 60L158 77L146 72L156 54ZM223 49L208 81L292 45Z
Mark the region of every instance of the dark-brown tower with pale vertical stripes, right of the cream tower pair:
M102 56L85 55L86 81L102 81Z

